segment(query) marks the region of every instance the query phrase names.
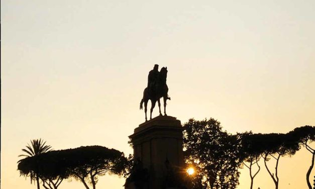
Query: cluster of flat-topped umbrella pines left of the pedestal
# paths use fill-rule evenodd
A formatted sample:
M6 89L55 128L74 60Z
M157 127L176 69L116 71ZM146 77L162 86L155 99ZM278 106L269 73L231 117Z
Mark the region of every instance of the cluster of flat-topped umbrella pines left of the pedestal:
M28 150L25 150L33 152L40 148L34 146L34 142L36 140L32 141L32 147L27 146ZM106 173L124 175L128 171L128 158L124 153L103 146L29 154L18 162L18 170L21 175L30 176L31 181L36 180L38 188L40 180L46 189L57 189L64 179L74 178L81 181L86 189L89 185L95 189L98 176Z

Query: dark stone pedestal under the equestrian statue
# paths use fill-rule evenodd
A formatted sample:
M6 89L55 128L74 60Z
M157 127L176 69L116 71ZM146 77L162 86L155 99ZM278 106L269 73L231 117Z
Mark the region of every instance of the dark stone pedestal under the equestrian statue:
M149 171L148 188L165 187L167 161L173 167L184 169L182 131L176 118L158 116L140 124L129 136L134 158L140 158L143 168Z

